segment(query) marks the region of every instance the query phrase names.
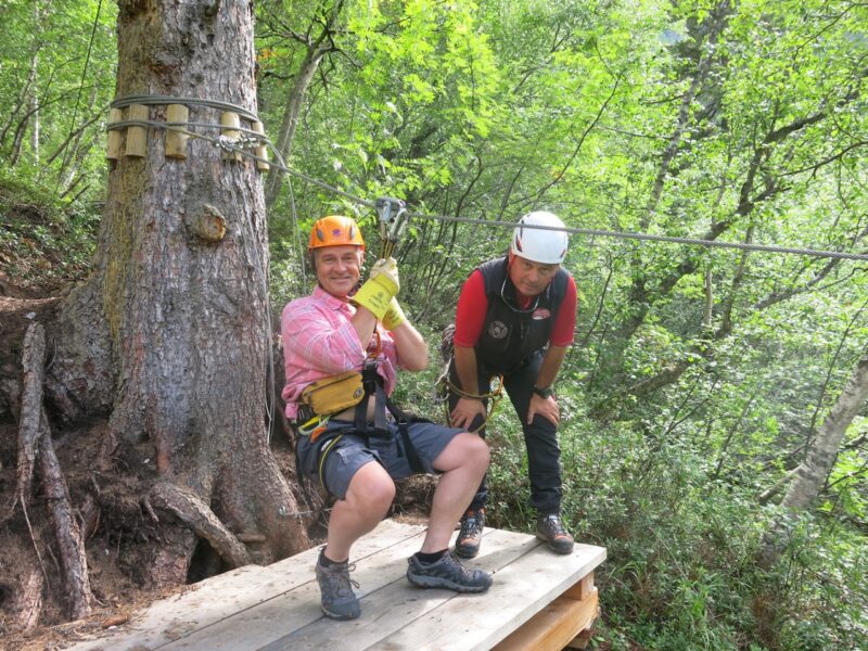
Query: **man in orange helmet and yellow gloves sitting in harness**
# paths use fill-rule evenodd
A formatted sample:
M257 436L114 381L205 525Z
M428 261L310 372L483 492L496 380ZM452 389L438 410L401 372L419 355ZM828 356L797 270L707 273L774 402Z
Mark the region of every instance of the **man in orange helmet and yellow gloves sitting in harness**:
M365 242L348 217L319 219L308 246L317 277L310 296L291 302L281 317L286 417L296 423L301 472L335 499L316 575L323 613L335 620L360 614L348 558L353 544L383 520L395 480L413 472L439 474L420 551L408 560L413 585L484 592L486 573L465 570L448 551L455 526L488 467L488 448L475 434L418 419L388 420L383 403L395 388L397 369L427 366L427 348L407 320L396 295L394 259L380 259L361 276ZM365 398L336 412L310 411L306 390L347 371L361 371ZM349 373L353 375L353 373ZM355 394L353 394L355 395ZM369 399L370 398L370 399ZM316 426L308 426L308 423Z

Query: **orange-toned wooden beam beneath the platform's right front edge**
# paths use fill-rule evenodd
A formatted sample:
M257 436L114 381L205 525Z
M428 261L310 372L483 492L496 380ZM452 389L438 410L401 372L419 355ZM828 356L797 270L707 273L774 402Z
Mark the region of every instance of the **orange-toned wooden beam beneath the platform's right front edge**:
M494 651L561 651L593 623L599 603L597 588L582 600L561 595L494 647Z

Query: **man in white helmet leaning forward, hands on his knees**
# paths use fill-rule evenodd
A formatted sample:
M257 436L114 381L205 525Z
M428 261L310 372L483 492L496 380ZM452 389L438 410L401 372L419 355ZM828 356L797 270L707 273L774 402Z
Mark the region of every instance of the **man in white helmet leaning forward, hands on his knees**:
M563 229L551 213L528 213L515 227L509 254L470 275L458 299L449 368L451 424L477 430L482 436L485 394L492 379L502 375L524 431L537 537L556 553L573 549L573 537L560 518L560 411L552 388L576 320L576 285L561 266L567 245ZM480 551L486 496L483 478L461 520L458 556L473 558Z

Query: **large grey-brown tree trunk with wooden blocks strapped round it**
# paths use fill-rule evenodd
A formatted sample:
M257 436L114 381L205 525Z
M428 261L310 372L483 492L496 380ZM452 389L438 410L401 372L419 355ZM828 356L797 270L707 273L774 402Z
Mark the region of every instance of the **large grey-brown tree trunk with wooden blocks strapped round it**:
M255 114L252 2L118 4L117 99L197 98ZM191 123L220 124L216 108L189 110ZM165 120L166 106L152 104L149 119ZM65 299L48 381L69 420L111 410L104 450L149 469L143 503L163 526L157 584L186 579L197 539L228 565L308 545L263 418L261 179L252 159L227 159L202 139L190 139L186 159L167 158L165 135L149 129L144 157L113 164L95 272Z

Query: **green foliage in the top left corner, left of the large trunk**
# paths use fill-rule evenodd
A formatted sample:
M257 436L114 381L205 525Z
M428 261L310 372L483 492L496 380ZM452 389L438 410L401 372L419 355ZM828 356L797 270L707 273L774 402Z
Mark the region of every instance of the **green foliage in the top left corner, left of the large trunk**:
M116 15L99 0L0 4L0 162L16 178L102 199Z

